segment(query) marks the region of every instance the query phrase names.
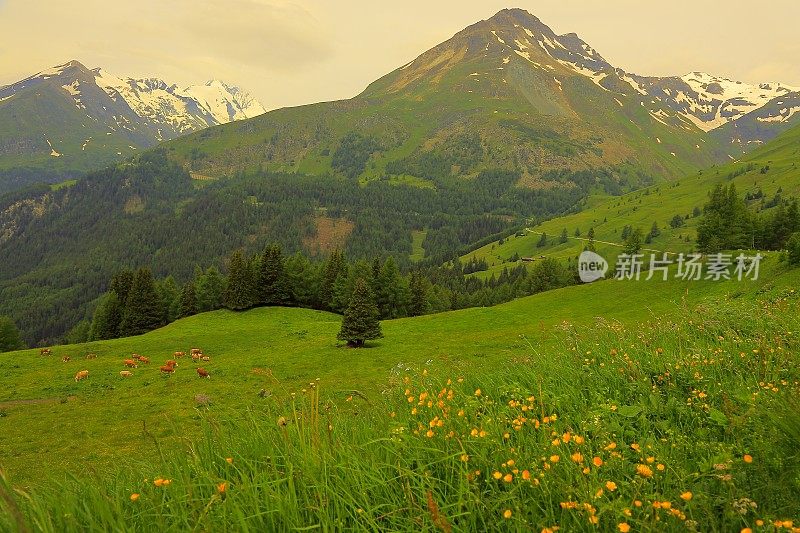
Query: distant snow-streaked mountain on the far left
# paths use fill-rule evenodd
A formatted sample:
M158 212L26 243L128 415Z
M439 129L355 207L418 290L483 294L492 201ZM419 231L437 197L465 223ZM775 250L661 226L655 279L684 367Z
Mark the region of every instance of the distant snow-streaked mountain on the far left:
M70 61L0 87L0 192L72 177L159 141L263 112L246 92L222 82L179 90Z

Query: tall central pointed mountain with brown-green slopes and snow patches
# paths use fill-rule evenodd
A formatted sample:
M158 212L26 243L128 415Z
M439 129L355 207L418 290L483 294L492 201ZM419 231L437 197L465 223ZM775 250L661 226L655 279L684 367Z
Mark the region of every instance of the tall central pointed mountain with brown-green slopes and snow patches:
M624 188L728 156L729 147L663 102L595 74L602 69L613 72L576 35L504 10L351 100L273 111L170 149L215 176L268 168L437 182L503 168L533 188L569 188L567 174L598 169ZM369 140L352 167L337 164L352 155L348 135Z

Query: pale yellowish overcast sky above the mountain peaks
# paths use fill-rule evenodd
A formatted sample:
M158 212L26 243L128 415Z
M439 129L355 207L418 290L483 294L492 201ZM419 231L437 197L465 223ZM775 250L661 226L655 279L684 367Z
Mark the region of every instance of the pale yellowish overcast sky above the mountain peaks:
M217 78L267 108L349 98L504 7L644 75L800 86L797 0L0 0L0 85L77 59L179 85Z

